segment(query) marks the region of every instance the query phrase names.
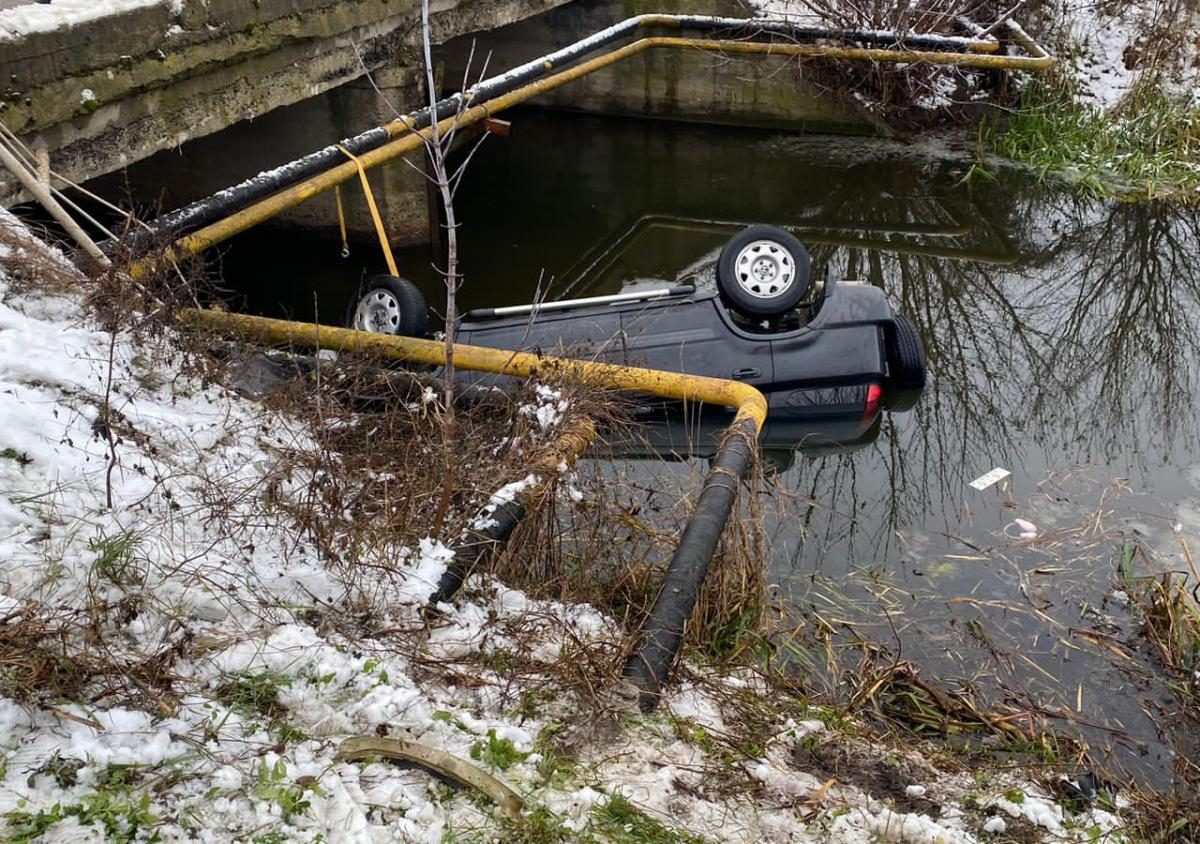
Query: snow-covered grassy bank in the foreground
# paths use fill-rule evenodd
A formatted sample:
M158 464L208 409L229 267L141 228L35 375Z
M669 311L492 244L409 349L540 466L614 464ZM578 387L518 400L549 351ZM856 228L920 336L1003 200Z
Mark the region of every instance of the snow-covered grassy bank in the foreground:
M11 244L17 225L0 213L0 226ZM55 259L20 232L0 257ZM650 717L628 695L563 690L556 666L617 642L611 619L481 576L422 618L397 595L425 594L445 567L434 540L386 579L343 581L277 505L300 483L280 474L280 455L305 447L305 426L162 352L98 329L77 295L19 293L0 274L0 624L71 617L58 636L125 669L64 699L22 683L26 644L0 631L0 682L19 695L0 698L2 838L503 838L484 798L421 770L341 761L350 736L475 764L524 798L526 820L510 825L564 840L638 840L640 825L662 824L714 842L970 843L1018 827L1058 842L1118 825L1100 810L1067 816L1012 774L980 786L832 734L820 712L781 711L731 755L710 737L737 728L731 695L766 693L754 678L677 688ZM539 397L532 414L552 427L560 399ZM331 621L364 593L391 595L372 606L388 622L372 629L394 635ZM906 772L901 790L810 770L802 748L824 743L853 746L864 771Z

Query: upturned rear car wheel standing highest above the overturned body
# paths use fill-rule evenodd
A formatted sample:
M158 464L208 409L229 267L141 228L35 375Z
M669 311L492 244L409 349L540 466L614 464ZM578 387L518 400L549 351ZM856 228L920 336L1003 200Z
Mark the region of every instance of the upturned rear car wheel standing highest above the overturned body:
M746 317L778 317L809 292L811 263L800 241L774 226L733 235L716 262L721 299Z

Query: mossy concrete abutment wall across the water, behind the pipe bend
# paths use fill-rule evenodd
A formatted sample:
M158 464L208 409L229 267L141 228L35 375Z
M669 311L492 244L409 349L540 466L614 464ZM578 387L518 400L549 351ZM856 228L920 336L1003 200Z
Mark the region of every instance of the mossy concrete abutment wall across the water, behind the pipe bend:
M649 12L748 17L738 0L592 0L472 38L439 52L446 78L461 79L474 42L475 61L491 55L497 73L577 41L634 14ZM678 35L678 32L670 32ZM824 95L787 56L728 56L655 49L631 56L536 97L533 103L600 114L769 128L874 133L876 122L846 96Z

